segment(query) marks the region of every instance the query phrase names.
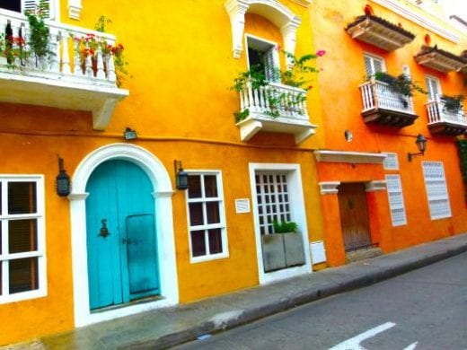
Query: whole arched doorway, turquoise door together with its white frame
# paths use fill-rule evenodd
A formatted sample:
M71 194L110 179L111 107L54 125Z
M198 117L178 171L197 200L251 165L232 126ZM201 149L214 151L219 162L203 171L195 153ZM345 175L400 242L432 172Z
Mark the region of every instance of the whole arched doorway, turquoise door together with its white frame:
M121 167L120 170L118 170L119 167ZM128 174L111 175L115 171L118 174L119 171ZM119 179L125 176L128 176L129 179ZM115 181L123 181L128 184L123 186L121 183L115 183ZM134 182L136 186L130 185L130 182ZM113 183L113 185L106 185L107 188L130 188L130 191L135 191L136 196L145 197L145 200L141 201L141 207L139 207L140 204L138 203L139 198L138 200L122 199L121 206L123 207L119 209L120 214L116 214L115 208L119 208L120 204L115 206L111 206L111 204L116 204L116 201L119 202L119 197L110 197L106 190L96 190L96 187L101 188L102 184L108 183ZM97 198L95 199L96 204L92 204L94 200L92 199L93 192L97 194L97 196L94 196L94 198ZM128 196L130 195L128 194ZM71 215L76 327L174 305L179 302L173 237L172 195L172 181L163 163L153 153L134 144L104 145L89 153L76 167L73 176L72 193L68 196ZM90 198L89 201L87 200L88 197ZM152 204L149 204L151 200ZM136 204L126 207L128 202L135 202ZM113 210L114 212L110 213L109 211L105 212L104 209L96 209L96 206L101 206L99 203L109 203L108 207L110 209L106 210ZM120 218L120 216L123 218ZM102 220L107 220L104 222L105 227L103 227ZM122 223L122 220L125 223ZM114 221L119 222L117 226L112 223ZM132 247L133 243L129 245L128 250L127 228L131 231L129 232L129 240L133 242L133 240L138 241L141 238L138 233L136 233L135 237L132 232L141 231L141 227L144 227L144 231L147 231L146 227L151 225L153 226L153 232L145 234L144 240L149 240L149 243L145 241L146 246L155 247L155 253L154 251L145 253L147 260L152 261L152 263L142 263L134 260L136 251L132 249L137 247ZM101 229L103 229L102 232ZM107 234L106 230L110 234ZM107 238L102 237L106 235ZM120 286L103 289L104 293L112 293L111 299L106 297L108 299L105 302L103 298L102 301L95 302L94 297L90 294L90 292L93 293L95 285L97 285L94 282L91 283L91 280L95 278L92 272L95 267L91 266L94 260L90 260L92 263L88 264L88 257L93 256L91 250L88 254L88 244L93 247L95 244L108 243L108 241L111 241L110 237L112 235L120 240L119 253L124 254L123 257L119 256L120 263L126 259L127 267L119 267ZM95 243L95 238L97 238L97 241L101 240L101 243ZM152 238L154 238L154 243L151 243ZM121 241L122 239L126 240L124 244ZM115 249L116 244L117 242L114 242L113 245L110 244L113 247L110 249ZM121 249L122 245L126 246L125 249ZM140 249L135 250L138 253L140 251ZM113 256L114 261L116 261L117 257L117 255ZM137 264L136 266L128 266L128 261L129 264L132 264L132 261L137 261ZM105 259L99 260L98 264L102 262L104 266L105 264L110 266L110 263L105 262ZM114 262L111 265L114 266ZM154 274L146 272L146 269L147 271L158 271L157 279L152 278L144 282L145 276L151 275L154 277ZM112 276L111 278L116 277ZM118 279L110 282L115 283L115 281L118 281ZM102 292L100 288L98 287L99 293ZM127 289L125 290L125 288ZM119 293L121 293L121 300L115 296ZM158 295L159 298L156 300L150 298L145 302L131 302L135 299L153 295ZM121 307L106 308L106 306L115 304L121 304L119 305Z

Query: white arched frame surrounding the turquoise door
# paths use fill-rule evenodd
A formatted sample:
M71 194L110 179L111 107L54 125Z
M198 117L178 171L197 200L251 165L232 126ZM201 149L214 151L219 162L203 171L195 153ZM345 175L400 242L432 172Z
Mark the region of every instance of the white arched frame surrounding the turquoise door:
M86 184L94 169L102 162L124 160L137 164L149 177L154 188L157 254L162 299L119 309L91 312L86 243ZM172 220L172 182L163 163L153 153L134 144L108 144L89 153L77 166L73 176L70 200L73 289L75 298L75 327L116 319L142 311L173 305L179 302L175 241Z

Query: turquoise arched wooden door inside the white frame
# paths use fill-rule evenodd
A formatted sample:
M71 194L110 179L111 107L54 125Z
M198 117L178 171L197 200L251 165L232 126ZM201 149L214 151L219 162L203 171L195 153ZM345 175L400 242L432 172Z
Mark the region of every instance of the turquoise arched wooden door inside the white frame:
M86 186L91 309L159 294L154 192L132 162L103 162Z

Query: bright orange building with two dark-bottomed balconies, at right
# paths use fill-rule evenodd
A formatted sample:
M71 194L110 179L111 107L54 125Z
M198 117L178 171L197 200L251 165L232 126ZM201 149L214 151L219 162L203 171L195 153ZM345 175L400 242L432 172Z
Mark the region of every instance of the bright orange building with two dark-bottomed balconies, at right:
M315 156L330 265L366 247L390 252L466 232L455 141L467 119L448 102L465 93L467 28L431 1L321 1L311 13L315 45L328 52L325 146ZM397 90L398 75L415 90Z

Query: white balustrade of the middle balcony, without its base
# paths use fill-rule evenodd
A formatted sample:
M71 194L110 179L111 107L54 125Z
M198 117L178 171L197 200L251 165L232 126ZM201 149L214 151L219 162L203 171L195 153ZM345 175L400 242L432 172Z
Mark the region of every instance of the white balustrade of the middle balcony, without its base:
M278 102L271 105L269 97ZM269 83L260 89L253 89L249 85L240 92L240 107L242 110L249 109L251 115L308 121L306 91L281 83Z

